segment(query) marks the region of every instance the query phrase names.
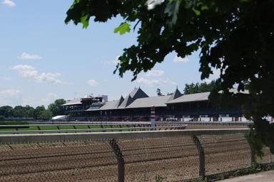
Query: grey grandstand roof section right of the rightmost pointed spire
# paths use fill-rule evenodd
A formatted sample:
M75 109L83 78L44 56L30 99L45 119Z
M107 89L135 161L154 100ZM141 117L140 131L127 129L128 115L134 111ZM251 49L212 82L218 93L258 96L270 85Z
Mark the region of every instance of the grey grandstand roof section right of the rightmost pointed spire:
M175 100L166 102L166 104L176 104L176 103L182 103L182 102L197 102L197 101L208 100L209 94L210 92L183 95L181 97L178 97Z

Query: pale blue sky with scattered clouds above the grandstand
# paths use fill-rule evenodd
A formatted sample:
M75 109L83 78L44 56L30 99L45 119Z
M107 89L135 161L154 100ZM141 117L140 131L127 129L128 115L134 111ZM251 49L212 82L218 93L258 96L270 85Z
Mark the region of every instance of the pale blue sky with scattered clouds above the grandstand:
M134 87L155 96L157 88L167 94L177 86L183 91L186 83L201 82L198 53L187 58L171 53L134 82L132 73L113 75L118 55L136 44L137 34L113 33L121 18L90 22L87 29L66 25L72 2L0 0L0 106L36 107L89 94L116 100Z

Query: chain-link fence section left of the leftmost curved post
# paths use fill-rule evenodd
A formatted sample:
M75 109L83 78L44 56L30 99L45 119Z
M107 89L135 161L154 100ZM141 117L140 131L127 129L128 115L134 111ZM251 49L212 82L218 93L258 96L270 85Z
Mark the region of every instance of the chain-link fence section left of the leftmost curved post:
M0 181L116 181L116 156L105 141L0 146Z

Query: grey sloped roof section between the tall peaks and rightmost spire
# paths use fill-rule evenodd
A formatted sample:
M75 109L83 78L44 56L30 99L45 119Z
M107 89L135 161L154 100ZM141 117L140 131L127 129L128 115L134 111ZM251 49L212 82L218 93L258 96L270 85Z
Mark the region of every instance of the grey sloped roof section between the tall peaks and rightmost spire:
M126 108L140 108L140 107L166 107L166 102L168 102L170 95L166 96L156 96L156 97L145 97L134 100L131 105Z

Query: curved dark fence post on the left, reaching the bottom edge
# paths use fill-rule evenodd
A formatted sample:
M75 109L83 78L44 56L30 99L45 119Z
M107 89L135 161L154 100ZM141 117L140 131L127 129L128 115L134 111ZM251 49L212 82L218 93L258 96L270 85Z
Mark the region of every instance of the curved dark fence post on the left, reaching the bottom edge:
M125 181L125 161L123 160L123 154L120 149L120 146L118 146L115 139L110 139L109 144L111 145L111 148L113 149L116 159L117 159L117 169L118 169L118 182L124 182Z

